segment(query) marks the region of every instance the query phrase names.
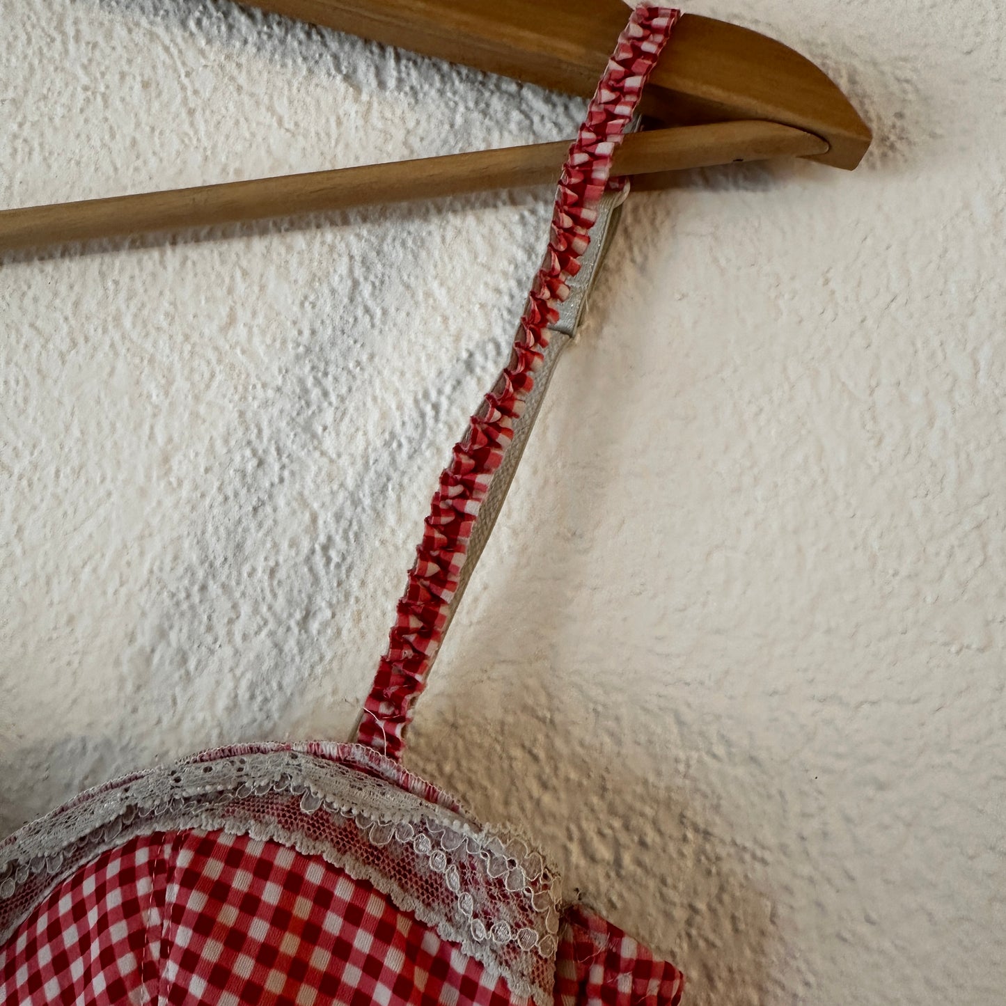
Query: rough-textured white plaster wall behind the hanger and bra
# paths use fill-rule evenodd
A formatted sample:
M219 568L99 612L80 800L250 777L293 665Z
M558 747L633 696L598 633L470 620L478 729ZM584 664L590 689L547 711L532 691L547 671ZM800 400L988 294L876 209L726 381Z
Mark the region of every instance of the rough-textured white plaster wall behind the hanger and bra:
M877 134L631 202L411 767L692 1004L1002 1002L1006 15L707 2ZM210 0L0 0L0 205L568 135L581 103ZM347 735L545 189L0 268L0 833Z

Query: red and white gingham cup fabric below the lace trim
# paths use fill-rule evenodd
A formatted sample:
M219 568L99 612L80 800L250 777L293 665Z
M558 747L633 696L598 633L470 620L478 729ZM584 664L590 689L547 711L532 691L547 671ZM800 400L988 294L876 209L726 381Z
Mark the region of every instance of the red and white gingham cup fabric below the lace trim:
M321 857L195 831L134 839L57 887L0 953L0 1001L526 1002Z

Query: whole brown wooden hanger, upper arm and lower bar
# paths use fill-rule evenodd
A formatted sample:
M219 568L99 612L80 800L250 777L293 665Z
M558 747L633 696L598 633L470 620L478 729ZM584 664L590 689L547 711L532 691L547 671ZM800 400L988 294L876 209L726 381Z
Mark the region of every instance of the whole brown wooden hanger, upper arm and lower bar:
M265 10L589 97L625 25L621 0L249 0ZM852 169L870 131L829 77L781 42L685 14L653 72L617 174L804 157ZM536 185L568 141L0 211L0 252Z

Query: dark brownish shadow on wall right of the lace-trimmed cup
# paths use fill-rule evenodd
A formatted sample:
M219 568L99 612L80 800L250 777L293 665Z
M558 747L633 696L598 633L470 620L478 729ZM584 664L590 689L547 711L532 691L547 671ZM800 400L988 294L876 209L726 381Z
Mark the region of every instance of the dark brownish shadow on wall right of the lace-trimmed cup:
M566 900L685 973L691 1006L764 1001L779 939L770 899L715 814L567 719L574 702L556 703L543 661L492 672L510 679L507 708L443 699L418 715L409 764L483 821L528 836Z

